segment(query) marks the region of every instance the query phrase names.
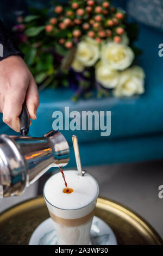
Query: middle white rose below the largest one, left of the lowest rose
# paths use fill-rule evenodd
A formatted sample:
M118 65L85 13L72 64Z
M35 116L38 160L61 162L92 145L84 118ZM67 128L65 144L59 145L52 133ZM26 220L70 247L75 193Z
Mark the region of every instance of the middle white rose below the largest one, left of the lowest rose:
M101 61L96 64L95 76L97 82L105 88L115 88L119 81L118 71L110 69L110 66L104 65Z

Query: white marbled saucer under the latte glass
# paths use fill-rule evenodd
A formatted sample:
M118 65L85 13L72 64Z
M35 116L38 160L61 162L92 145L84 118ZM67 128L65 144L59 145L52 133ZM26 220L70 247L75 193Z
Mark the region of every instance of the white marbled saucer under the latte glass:
M91 227L92 245L117 245L112 229L101 218L93 217ZM29 245L58 245L51 218L43 221L33 232Z

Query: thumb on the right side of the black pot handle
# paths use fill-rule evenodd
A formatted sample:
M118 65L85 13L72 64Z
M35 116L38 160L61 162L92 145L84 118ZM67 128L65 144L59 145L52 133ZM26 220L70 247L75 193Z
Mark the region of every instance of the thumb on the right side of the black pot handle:
M28 108L29 116L31 119L36 119L36 111L40 105L39 93L37 90L34 78L30 81L27 94L26 94L26 105Z

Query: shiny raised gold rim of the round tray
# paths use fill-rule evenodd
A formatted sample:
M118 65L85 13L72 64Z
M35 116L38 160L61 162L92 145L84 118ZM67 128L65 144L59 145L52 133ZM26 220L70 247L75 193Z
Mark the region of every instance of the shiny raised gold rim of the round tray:
M16 215L16 213L20 212L20 210L23 211L24 207L26 208L26 204L31 203L32 205L34 205L35 201L40 202L39 204L46 205L43 196L37 196L34 198L30 198L28 200L24 200L23 202L13 205L8 209L2 211L0 213L0 224L10 216ZM127 220L130 224L134 225L135 227L136 225L139 225L139 227L142 228L142 230L145 230L146 233L148 233L152 237L152 239L156 242L157 245L163 245L163 240L161 236L152 227L152 225L149 224L143 217L141 217L139 214L137 214L135 211L131 210L127 206L106 197L98 197L96 208L102 208L106 211L109 211L109 209L111 209L111 212L114 212L115 215L118 215L120 217L123 216L125 220Z

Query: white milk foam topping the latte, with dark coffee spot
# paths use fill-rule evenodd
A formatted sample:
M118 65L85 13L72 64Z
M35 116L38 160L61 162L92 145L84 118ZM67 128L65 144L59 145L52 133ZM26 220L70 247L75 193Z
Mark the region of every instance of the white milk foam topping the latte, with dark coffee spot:
M44 188L44 196L50 204L66 210L79 209L97 197L98 185L90 174L79 176L77 170L66 170L64 174L67 187L74 191L70 194L62 192L65 188L64 179L60 172L54 174Z

